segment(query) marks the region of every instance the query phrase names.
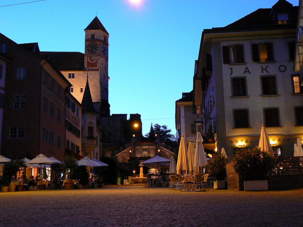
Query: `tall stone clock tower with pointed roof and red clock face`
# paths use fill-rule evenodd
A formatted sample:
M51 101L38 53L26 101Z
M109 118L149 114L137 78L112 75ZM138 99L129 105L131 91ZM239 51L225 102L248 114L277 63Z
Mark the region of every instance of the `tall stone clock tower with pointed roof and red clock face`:
M108 37L109 34L95 17L85 31L85 71L90 78L94 102L100 102L100 117L109 116L108 103ZM98 80L98 83L97 83Z

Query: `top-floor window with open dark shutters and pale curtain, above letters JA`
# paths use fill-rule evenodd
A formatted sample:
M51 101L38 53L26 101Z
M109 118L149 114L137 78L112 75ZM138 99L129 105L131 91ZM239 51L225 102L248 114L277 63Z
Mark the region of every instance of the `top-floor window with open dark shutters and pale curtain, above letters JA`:
M244 63L243 45L222 46L223 64Z

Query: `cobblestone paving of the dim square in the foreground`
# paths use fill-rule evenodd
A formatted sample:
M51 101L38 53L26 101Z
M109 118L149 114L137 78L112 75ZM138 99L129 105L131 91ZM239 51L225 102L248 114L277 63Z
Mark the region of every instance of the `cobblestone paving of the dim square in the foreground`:
M303 226L303 189L105 187L0 193L0 226Z

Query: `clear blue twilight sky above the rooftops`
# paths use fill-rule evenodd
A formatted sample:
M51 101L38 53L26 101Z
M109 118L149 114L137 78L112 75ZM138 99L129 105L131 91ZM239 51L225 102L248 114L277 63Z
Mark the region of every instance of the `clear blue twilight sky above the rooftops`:
M84 29L97 13L109 33L111 114L141 114L143 135L151 123L167 125L175 134L175 101L192 90L203 29L224 27L278 2L33 1L1 0L0 32L16 43L38 42L40 51L84 53ZM24 2L33 3L12 5ZM298 0L288 2L298 5Z

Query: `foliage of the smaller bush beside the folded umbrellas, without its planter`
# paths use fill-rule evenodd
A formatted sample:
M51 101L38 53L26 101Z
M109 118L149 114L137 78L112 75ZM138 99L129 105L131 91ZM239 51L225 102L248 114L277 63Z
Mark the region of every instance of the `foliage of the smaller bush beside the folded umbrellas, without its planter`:
M226 167L228 158L225 155L218 154L211 158L207 165L207 169L215 180L225 180L226 178Z

